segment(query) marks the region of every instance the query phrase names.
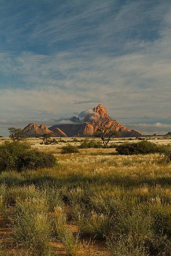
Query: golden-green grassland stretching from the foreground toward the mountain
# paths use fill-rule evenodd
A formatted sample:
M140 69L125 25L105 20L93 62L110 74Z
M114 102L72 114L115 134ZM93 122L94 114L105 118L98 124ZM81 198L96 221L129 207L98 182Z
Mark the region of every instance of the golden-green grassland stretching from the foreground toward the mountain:
M116 155L115 148L60 154L68 141L79 144L64 140L29 140L53 152L56 167L0 174L1 254L171 255L171 164L158 154Z

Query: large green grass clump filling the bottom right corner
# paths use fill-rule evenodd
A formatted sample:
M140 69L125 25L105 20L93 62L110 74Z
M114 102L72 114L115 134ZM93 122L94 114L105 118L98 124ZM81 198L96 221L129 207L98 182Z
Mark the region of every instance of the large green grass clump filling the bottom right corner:
M155 232L153 216L144 215L138 208L118 216L112 236L107 238L106 244L112 255L118 256L168 255L170 250L167 236Z

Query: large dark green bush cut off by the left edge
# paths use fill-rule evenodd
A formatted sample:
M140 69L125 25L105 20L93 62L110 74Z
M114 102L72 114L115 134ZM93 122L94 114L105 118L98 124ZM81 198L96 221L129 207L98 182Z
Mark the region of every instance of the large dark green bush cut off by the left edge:
M0 146L0 171L53 167L56 158L51 153L33 150L25 142L6 142Z

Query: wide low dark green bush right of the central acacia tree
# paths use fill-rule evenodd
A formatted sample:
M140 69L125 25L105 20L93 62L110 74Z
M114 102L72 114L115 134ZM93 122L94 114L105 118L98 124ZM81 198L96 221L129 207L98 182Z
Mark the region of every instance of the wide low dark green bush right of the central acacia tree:
M120 155L151 154L160 152L160 147L155 143L142 140L138 143L123 143L116 147Z

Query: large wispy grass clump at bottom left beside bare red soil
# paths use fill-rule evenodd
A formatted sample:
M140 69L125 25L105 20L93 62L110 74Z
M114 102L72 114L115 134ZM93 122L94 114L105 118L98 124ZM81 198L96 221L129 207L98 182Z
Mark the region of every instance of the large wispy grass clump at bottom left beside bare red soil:
M46 202L42 199L17 201L10 217L13 239L33 255L50 255L52 228Z

